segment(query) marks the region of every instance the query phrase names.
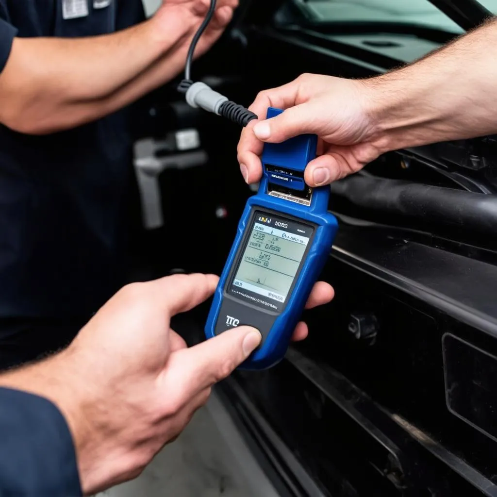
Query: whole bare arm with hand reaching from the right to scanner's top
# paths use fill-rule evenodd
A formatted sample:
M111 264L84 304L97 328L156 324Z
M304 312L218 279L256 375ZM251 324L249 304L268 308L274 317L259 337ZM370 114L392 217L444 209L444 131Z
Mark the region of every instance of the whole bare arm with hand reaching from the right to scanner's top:
M323 155L306 169L311 186L359 170L380 154L405 147L497 132L497 21L420 61L367 80L303 75L262 91L250 109L287 109L242 133L238 159L248 182L261 174L262 142L302 133L323 140Z

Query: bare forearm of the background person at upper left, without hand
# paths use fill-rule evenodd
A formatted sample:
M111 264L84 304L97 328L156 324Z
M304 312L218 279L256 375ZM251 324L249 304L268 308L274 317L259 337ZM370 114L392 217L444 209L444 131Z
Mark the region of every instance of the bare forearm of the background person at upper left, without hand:
M147 74L189 35L182 10L111 35L84 39L16 38L0 75L0 120L24 132L76 126ZM138 97L140 95L136 95ZM88 105L93 112L81 111ZM83 114L83 115L82 115Z

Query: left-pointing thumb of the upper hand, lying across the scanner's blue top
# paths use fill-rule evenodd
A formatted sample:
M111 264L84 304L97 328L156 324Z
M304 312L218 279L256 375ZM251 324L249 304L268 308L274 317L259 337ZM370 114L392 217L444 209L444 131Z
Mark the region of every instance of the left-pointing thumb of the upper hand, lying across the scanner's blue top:
M253 127L253 133L263 142L281 143L294 136L313 132L311 129L313 121L309 105L302 103L286 109L271 119L258 122Z

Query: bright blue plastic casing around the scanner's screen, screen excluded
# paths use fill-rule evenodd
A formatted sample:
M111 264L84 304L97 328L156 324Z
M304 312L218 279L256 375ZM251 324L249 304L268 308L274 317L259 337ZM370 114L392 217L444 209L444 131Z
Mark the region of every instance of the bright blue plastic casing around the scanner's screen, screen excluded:
M281 113L279 109L269 108L267 118ZM303 190L306 185L302 178L285 175L281 172L267 170L266 166L282 167L298 173L303 173L307 164L316 157L317 137L315 135L301 135L280 144L265 144L262 154L263 174L259 190L250 197L238 224L238 231L231 248L228 260L221 274L219 284L214 294L214 300L209 312L205 333L207 338L216 335L216 324L219 318L223 299L228 296L227 289L233 275L232 268L237 261L237 255L244 240L244 234L252 220L255 210L269 210L283 217L313 225L315 231L311 239L311 246L301 263L299 272L295 276L292 288L286 298L281 313L274 313L277 317L263 342L245 361L241 369L266 369L279 362L286 353L292 333L297 325L309 294L328 259L338 224L336 218L328 212L330 187L323 186L313 190L309 206L301 205L291 200L274 197L268 194L268 186L280 185L287 190ZM232 298L232 296L230 296ZM253 312L261 311L258 307L246 303L253 308ZM241 325L250 323L240 322Z

